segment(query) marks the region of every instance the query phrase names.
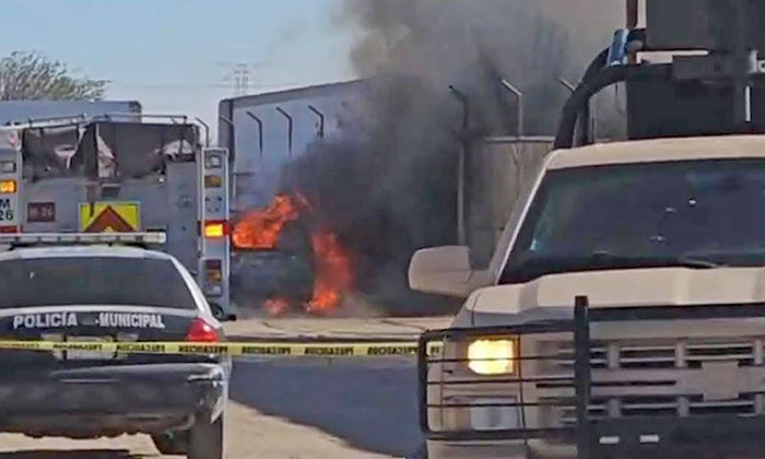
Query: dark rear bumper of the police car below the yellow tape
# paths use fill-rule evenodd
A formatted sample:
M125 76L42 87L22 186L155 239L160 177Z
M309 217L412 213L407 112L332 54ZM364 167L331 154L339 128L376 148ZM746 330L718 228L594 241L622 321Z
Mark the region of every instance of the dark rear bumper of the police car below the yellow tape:
M212 363L105 365L0 378L0 431L90 438L183 429L215 420L228 372Z

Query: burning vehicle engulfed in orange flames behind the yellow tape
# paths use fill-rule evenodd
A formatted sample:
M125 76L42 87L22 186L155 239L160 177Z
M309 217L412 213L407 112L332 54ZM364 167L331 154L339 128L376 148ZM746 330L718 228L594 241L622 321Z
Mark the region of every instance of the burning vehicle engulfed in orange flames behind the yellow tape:
M350 252L315 217L301 193L282 193L249 210L232 232L234 299L278 316L327 315L353 286Z

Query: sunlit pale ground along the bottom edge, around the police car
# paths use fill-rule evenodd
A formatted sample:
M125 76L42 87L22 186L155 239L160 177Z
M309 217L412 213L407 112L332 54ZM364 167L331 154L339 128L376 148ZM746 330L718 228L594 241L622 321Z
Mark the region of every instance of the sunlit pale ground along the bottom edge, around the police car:
M226 457L228 459L381 459L355 450L343 440L311 427L290 424L267 416L236 402L226 414ZM70 440L0 435L0 459L160 459L180 458L156 452L145 435Z

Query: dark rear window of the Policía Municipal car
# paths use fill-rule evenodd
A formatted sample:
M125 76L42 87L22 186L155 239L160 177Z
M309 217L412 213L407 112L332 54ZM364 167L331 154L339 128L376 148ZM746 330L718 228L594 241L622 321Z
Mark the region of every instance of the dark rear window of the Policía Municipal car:
M193 309L173 262L143 258L71 257L0 262L0 308L138 305Z

